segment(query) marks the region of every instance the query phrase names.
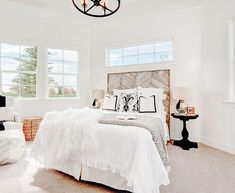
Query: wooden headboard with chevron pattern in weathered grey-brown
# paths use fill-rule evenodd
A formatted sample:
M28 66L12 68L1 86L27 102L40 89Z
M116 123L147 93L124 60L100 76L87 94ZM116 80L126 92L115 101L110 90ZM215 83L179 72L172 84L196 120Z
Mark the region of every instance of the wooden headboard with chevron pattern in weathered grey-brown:
M164 89L167 96L164 101L166 119L170 126L170 70L111 73L108 74L107 81L108 93L112 93L114 89L128 89L137 86Z

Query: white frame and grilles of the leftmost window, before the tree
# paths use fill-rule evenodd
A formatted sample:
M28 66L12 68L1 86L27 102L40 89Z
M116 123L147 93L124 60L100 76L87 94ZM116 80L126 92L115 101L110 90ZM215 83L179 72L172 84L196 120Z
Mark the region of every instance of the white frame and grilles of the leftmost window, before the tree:
M8 59L14 59L14 57L10 57L10 56L3 56L2 55L2 44L7 44L7 45L12 45L12 46L18 46L19 47L19 59L23 58L22 55L21 55L21 48L22 47L33 47L33 48L36 48L37 49L37 57L36 57L36 64L37 64L37 67L36 67L36 70L35 71L23 71L23 70L2 70L2 57L4 58L8 58ZM26 45L27 44L27 45ZM20 62L19 62L20 64ZM6 95L8 97L13 97L13 98L16 98L16 99L37 99L37 87L38 87L38 46L37 45L32 45L32 44L28 44L28 43L12 43L12 42L0 42L0 93L4 94L3 93L3 87L4 86L12 86L10 84L6 84L6 85L3 85L3 82L2 82L2 78L3 78L3 73L15 73L15 74L18 74L18 75L21 75L21 74L35 74L36 76L36 84L35 85L21 85L20 81L18 84L19 86L19 91L18 91L18 95L16 96L10 96L10 95ZM21 87L22 86L34 86L35 87L35 96L34 97L24 97L21 95Z

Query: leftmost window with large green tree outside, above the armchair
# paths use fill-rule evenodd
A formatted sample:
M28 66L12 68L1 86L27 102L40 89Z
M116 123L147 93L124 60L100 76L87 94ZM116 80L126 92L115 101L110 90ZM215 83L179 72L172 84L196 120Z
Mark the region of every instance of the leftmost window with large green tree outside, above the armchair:
M1 93L36 97L37 48L3 43L0 48Z

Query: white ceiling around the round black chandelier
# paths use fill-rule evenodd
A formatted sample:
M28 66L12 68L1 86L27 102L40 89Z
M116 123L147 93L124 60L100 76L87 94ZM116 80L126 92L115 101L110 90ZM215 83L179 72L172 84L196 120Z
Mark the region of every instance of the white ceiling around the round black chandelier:
M111 0L110 0L111 1ZM139 17L171 9L195 6L201 0L121 0L120 10L111 17L92 18L78 12L72 0L0 0L0 13L23 16L28 19L44 19L45 22L72 22L87 27L103 21Z

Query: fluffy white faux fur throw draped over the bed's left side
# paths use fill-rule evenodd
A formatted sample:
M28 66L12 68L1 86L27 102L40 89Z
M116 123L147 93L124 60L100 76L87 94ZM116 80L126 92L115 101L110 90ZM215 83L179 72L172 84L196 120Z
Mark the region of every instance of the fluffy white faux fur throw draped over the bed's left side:
M58 162L76 160L84 151L95 149L94 127L100 112L91 108L67 109L47 113L40 124L32 155L40 151L54 154ZM48 149L50 147L50 149Z

